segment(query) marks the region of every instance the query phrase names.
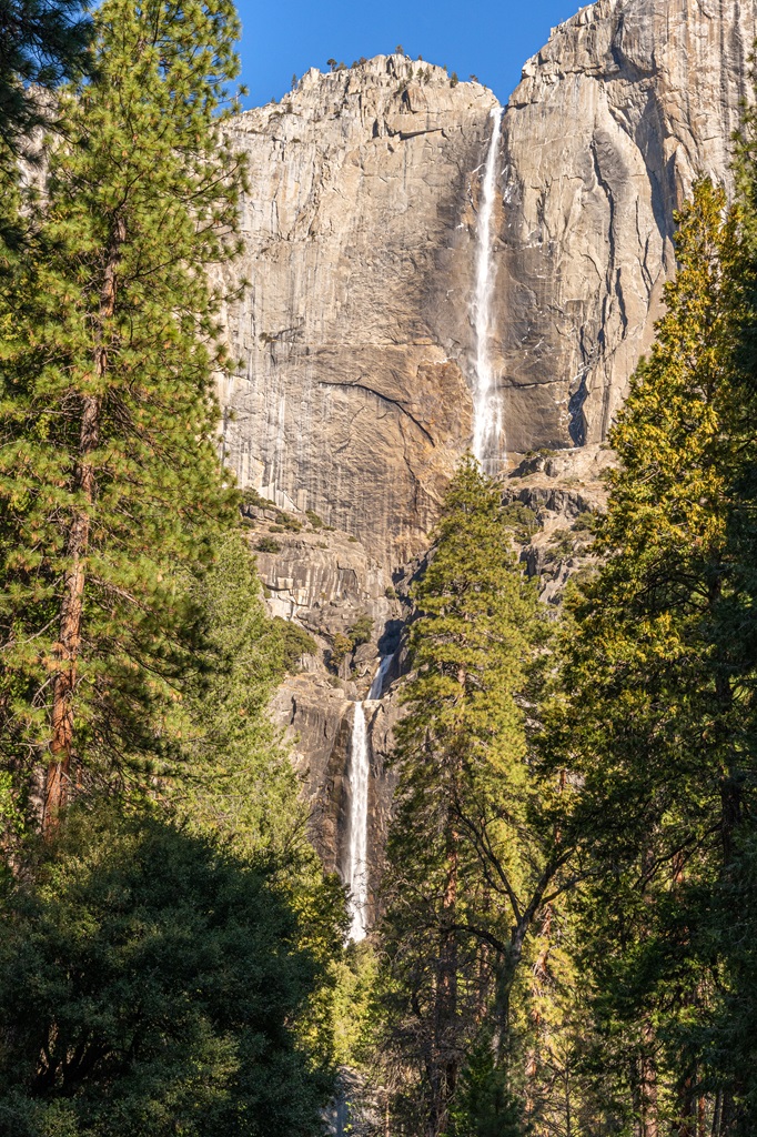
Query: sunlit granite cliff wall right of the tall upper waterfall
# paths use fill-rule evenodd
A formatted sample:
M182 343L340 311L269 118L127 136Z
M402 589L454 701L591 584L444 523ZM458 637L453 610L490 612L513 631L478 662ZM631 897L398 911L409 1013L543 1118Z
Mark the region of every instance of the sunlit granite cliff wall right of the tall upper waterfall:
M674 209L730 181L754 0L599 0L505 116L499 371L511 450L600 441L674 271Z

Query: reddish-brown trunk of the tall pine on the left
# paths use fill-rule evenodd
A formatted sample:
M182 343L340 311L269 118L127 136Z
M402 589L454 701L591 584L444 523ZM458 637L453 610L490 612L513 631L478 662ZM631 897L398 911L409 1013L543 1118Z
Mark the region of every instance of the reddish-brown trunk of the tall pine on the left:
M74 758L74 694L82 642L86 554L90 543L92 506L97 495L94 466L90 456L100 442L101 396L99 392L102 390L102 380L108 372L106 329L107 322L113 318L116 309L116 269L125 240L126 225L123 219L118 218L114 223L110 236L95 329L93 371L98 393L85 395L82 398L78 462L74 485L84 498L86 507L75 511L66 545L66 555L70 565L64 578L60 632L55 647L58 667L52 680L50 761L42 818L45 836L50 836L57 829L60 812L66 805Z

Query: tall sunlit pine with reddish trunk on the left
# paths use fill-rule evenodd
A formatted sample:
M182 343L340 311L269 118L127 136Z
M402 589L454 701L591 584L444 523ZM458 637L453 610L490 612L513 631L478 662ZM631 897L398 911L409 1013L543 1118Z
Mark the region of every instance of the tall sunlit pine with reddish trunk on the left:
M197 654L188 573L234 515L219 479L224 365L208 266L234 252L243 174L219 133L231 0L107 0L97 68L65 96L0 343L2 760L73 782L175 752Z

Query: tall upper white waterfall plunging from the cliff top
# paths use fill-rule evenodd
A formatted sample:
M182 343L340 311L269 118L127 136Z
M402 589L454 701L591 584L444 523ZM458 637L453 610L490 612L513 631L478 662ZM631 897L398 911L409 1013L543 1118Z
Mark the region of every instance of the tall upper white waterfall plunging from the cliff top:
M502 108L491 109L492 130L484 165L476 230L476 281L473 293L473 327L476 348L476 375L473 392L473 455L482 470L496 474L505 457L500 438L502 433L502 404L497 390L497 379L491 366L489 341L491 337L491 301L494 272L491 258L491 222L497 192L497 153L502 127Z

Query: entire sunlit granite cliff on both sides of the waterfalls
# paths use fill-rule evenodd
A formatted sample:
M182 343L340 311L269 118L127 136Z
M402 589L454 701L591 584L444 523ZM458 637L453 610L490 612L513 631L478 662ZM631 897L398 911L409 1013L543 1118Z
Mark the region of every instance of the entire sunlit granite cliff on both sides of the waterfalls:
M602 441L675 267L674 210L700 173L729 184L756 16L756 0L598 0L525 64L498 130L490 91L399 55L310 70L228 125L251 183L225 274L251 284L226 313L240 363L221 391L224 460L250 488L272 608L318 644L274 713L328 863L352 704L400 642L407 584L472 443L484 211L504 493L538 516L523 555L550 600L571 532L601 504ZM364 614L373 642L330 674L334 636ZM397 714L384 703L368 716L374 848Z

